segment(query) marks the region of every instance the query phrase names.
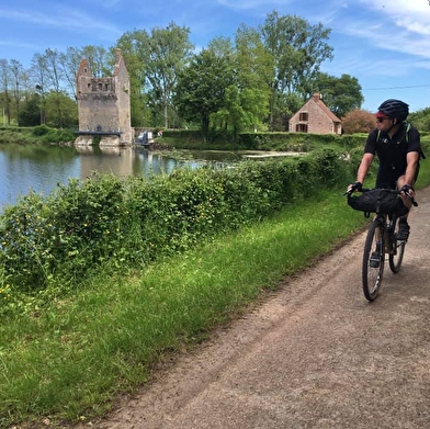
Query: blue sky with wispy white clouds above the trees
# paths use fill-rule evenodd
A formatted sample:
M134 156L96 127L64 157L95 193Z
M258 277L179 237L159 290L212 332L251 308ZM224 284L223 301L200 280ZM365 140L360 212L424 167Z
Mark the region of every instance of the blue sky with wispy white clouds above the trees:
M240 24L258 27L267 15L296 15L331 29L333 59L321 71L359 80L362 109L376 112L400 99L410 112L430 106L430 0L2 0L0 59L30 68L45 49L109 48L128 31L190 29L196 50Z

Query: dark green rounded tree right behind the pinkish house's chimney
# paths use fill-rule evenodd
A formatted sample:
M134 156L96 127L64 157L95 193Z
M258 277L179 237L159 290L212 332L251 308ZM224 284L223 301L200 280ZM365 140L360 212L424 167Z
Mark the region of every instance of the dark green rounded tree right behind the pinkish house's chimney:
M359 80L350 75L336 78L320 72L315 80L314 88L320 93L327 108L338 117L360 109L364 101Z

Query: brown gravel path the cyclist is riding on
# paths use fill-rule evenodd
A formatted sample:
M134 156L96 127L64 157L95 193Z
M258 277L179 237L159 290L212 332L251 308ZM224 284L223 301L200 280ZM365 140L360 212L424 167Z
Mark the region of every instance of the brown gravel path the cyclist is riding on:
M418 201L373 304L360 235L87 428L430 428L430 189Z

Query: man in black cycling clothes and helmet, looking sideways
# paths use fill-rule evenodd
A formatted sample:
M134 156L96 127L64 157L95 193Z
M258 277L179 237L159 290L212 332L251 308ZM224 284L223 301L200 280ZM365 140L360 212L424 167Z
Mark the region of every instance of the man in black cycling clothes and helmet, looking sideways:
M364 155L357 172L355 183L348 187L348 191L360 190L372 161L377 156L380 167L377 170L375 188L398 189L404 204L410 210L419 172L419 160L423 157L420 144L420 134L417 128L406 122L409 105L400 100L389 99L377 109L376 127L369 133L364 146ZM409 197L407 197L409 196ZM409 237L407 215L399 219L397 238L407 240ZM372 253L371 266L377 267L380 249Z

